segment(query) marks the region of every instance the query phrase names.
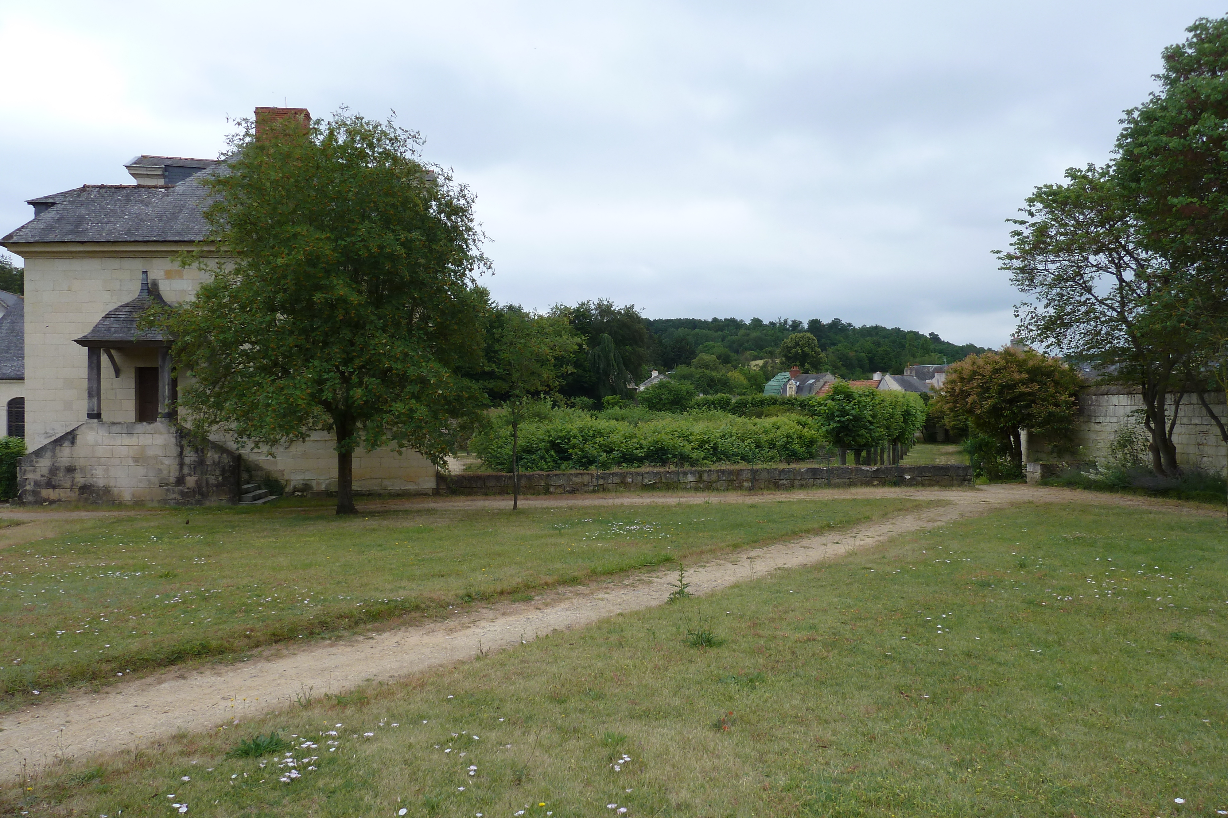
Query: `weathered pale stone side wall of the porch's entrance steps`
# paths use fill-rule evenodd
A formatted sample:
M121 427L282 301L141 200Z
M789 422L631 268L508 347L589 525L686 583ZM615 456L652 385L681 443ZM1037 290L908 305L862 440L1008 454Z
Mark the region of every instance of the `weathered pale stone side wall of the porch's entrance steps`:
M233 451L215 443L198 448L166 421L86 421L21 459L18 498L23 504L233 503L238 468Z

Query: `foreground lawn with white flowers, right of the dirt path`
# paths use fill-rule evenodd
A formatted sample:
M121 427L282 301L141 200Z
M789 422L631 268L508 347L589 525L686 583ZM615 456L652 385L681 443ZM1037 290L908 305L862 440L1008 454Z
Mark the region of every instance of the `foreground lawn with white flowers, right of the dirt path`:
M68 764L0 811L1222 814L1224 542L1222 520L1168 511L998 511ZM270 732L285 749L227 758Z

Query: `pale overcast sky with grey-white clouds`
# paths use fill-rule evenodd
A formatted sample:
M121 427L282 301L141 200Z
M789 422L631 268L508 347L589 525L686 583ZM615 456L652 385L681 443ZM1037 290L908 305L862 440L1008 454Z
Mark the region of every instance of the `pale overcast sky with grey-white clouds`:
M501 302L839 316L1000 346L991 250L1109 158L1201 0L11 2L0 234L26 199L215 157L227 117L421 131L478 196Z

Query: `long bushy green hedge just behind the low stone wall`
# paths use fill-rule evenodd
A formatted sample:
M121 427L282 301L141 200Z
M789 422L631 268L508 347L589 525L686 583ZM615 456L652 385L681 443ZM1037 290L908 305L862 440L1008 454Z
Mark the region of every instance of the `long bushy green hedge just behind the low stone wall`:
M810 460L819 435L804 418L740 418L691 413L639 423L555 412L521 426L522 471L614 470L643 466L793 462ZM512 470L512 432L494 423L474 438L488 468Z

